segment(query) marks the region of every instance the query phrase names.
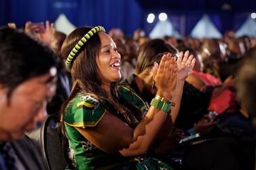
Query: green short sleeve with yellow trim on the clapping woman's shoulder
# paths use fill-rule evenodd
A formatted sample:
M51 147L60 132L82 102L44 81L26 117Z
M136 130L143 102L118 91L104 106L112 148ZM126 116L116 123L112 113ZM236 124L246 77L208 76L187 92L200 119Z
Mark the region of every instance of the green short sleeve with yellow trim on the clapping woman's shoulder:
M64 121L73 127L94 127L106 109L92 95L78 94L65 109Z

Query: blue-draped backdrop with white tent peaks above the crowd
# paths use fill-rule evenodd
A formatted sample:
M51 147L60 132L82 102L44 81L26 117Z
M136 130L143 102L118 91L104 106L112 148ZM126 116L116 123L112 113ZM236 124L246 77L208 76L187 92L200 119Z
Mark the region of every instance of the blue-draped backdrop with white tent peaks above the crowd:
M54 22L70 33L79 26L121 28L132 35L141 28L151 38L219 38L228 30L256 36L255 0L0 0L0 25Z

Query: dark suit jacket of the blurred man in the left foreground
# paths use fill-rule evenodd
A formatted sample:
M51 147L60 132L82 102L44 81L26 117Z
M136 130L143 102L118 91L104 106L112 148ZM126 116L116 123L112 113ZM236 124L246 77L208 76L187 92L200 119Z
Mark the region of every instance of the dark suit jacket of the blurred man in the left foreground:
M27 170L43 170L45 169L43 165L43 158L41 156L40 148L25 136L21 140L16 140L11 142L14 151L20 162L23 164Z

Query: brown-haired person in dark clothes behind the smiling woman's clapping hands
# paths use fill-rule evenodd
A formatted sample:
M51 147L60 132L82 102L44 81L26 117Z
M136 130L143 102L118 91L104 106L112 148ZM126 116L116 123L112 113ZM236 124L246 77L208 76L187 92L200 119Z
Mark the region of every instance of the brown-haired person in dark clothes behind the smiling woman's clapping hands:
M152 88L153 62L160 62L159 59L164 53L170 53L172 56L178 56L179 51L163 39L153 39L147 41L139 49L135 74L127 79L132 89L141 95L141 98L148 103L150 103L155 93L154 89ZM188 54L189 53L187 52L186 55ZM195 66L197 65L198 64L196 62ZM186 66L184 66L184 68L185 67ZM177 84L177 89L179 89L179 91L175 89L175 95L172 99L173 101L175 101L175 98L177 99L177 101L175 101L177 106L172 109L172 114L174 114L174 112L179 112L175 122L175 127L188 130L194 127L194 124L198 123L198 121L202 119L203 115L206 114L208 108L208 98L210 97L208 93L200 93L198 89L186 81L184 82L183 77L184 76L179 77L180 81L179 84ZM185 77L187 77L187 75L185 75ZM180 95L182 95L182 98ZM182 107L179 107L180 99ZM172 118L175 117L172 116Z

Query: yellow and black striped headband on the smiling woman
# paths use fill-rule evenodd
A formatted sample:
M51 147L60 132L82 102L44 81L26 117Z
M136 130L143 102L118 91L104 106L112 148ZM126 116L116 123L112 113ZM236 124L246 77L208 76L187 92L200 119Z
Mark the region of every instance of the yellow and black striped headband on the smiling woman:
M93 35L95 35L98 32L104 32L105 33L105 28L103 28L103 26L95 26L94 28L89 30L89 32L86 33L86 35L84 35L84 37L80 39L80 41L78 41L78 43L75 45L75 47L73 47L73 49L71 50L71 52L70 52L70 54L69 54L69 56L66 60L66 63L65 63L66 68L68 70L71 69L73 59L75 58L75 55L77 54L79 49L81 49L81 47L84 46L84 44L88 41L88 39L90 39L90 37L92 37Z

